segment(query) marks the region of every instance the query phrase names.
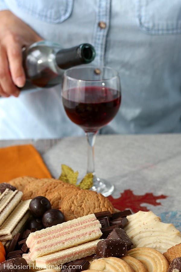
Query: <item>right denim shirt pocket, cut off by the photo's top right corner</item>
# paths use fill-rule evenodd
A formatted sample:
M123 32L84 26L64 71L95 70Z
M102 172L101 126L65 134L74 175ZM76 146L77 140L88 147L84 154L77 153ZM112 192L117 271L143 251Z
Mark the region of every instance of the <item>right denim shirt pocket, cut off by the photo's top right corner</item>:
M140 28L148 34L181 33L181 1L135 0Z

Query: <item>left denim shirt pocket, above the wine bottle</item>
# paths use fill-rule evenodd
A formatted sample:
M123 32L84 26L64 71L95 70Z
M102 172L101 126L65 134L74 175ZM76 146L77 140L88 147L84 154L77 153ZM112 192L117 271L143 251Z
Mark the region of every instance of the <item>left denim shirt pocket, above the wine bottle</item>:
M17 7L38 20L52 24L65 21L72 12L74 0L15 0Z

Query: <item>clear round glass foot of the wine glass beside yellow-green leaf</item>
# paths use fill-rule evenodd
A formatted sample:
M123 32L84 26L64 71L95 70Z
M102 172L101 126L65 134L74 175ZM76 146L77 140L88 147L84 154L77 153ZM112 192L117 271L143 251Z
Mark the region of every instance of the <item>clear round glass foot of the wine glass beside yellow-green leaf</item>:
M94 185L90 188L90 190L101 193L103 196L110 196L114 191L114 185L110 184L110 182L107 180L94 176L93 183Z

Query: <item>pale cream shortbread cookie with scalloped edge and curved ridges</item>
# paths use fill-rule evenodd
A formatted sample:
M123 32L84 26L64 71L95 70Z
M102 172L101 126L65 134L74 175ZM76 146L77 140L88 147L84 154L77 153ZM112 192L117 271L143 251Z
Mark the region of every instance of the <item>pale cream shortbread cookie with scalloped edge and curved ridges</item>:
M168 248L181 242L181 234L173 224L160 222L153 212L139 211L128 215L125 231L133 247L149 247L164 253Z

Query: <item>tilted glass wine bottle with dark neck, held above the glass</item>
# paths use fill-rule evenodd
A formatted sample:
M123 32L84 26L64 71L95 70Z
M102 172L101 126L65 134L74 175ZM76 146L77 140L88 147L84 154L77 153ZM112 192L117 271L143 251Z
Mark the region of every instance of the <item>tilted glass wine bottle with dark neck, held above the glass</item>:
M21 90L56 86L61 83L65 69L90 63L94 58L94 47L86 43L62 49L59 44L43 40L24 47L26 84Z

